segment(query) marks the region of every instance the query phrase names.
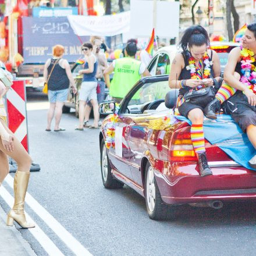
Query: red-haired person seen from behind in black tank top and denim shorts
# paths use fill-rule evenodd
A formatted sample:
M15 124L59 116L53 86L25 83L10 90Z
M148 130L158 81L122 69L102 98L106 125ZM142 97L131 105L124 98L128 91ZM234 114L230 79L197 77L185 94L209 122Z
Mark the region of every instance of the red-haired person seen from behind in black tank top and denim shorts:
M52 49L52 58L48 59L44 65L44 81L48 81L48 99L50 102L46 131L51 131L54 114L54 131L65 131L59 127L59 123L61 122L64 102L67 100L69 84L71 84L73 93L76 94L77 92L69 62L62 58L64 52L65 49L62 45L55 45Z

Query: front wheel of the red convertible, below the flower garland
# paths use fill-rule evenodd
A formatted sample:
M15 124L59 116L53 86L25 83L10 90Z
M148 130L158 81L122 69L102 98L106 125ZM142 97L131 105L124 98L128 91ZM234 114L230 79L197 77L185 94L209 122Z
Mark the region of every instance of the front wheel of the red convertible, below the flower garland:
M111 166L104 140L101 141L101 177L106 189L121 189L123 187L123 183L116 180L111 174Z

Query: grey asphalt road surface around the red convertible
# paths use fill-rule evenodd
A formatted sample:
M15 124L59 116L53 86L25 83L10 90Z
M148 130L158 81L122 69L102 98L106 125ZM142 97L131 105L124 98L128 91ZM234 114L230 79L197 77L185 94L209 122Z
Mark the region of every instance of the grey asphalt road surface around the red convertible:
M135 191L102 186L99 130L75 131L78 120L70 113L61 122L66 131L47 132L46 98L31 94L28 102L30 154L41 166L31 173L29 193L91 254L255 255L255 203L220 210L187 206L176 221L152 221ZM2 198L0 204L7 212ZM64 255L74 255L33 209L26 210ZM20 232L37 255L47 255L29 230Z

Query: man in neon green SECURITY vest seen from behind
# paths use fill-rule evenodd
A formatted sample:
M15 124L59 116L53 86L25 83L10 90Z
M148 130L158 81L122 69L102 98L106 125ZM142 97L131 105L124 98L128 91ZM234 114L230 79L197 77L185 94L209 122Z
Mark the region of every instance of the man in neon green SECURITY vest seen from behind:
M130 91L130 88L140 80L141 76L150 76L150 72L143 63L135 59L137 46L134 42L127 44L125 48L125 58L114 60L111 65L105 69L104 78L106 86L109 88L109 94L112 99L120 103L123 97ZM109 74L113 74L113 80L109 81ZM140 99L139 93L136 93L134 100Z

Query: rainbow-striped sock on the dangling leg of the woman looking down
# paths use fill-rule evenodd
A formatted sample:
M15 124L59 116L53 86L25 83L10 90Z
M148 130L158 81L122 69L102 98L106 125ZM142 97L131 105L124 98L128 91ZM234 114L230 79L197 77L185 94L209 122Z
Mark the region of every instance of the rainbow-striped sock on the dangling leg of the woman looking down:
M195 154L205 152L204 130L202 125L192 125L190 129L190 136Z

